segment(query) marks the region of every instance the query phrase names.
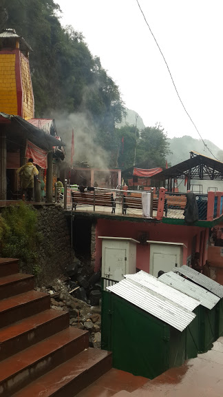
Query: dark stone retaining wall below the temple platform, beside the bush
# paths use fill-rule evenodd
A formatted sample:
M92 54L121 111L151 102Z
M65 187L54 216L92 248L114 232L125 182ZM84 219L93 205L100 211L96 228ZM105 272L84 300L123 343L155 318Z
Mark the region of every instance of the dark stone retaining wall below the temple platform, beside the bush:
M52 278L64 274L65 268L72 261L70 230L61 206L44 205L36 209L38 230L41 232L37 283L47 285Z

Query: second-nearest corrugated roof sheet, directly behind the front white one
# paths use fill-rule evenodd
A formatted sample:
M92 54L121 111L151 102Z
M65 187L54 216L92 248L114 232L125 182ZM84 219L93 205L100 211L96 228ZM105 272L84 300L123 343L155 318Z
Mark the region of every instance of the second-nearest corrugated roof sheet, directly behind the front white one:
M178 291L177 289L169 287L169 285L165 285L161 283L160 278L156 278L151 276L146 272L140 270L140 272L136 274L126 274L125 278L130 278L132 281L136 281L140 285L151 289L157 294L164 296L164 298L169 299L170 301L184 307L191 312L200 305L199 301L196 301L194 298L183 294L182 292Z

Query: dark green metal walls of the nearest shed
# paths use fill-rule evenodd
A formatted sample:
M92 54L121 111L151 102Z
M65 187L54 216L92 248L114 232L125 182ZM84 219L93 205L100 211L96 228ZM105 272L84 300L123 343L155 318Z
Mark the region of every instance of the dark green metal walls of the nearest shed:
M120 296L103 291L102 349L112 352L115 368L153 379L182 365L185 347L185 329L180 332Z

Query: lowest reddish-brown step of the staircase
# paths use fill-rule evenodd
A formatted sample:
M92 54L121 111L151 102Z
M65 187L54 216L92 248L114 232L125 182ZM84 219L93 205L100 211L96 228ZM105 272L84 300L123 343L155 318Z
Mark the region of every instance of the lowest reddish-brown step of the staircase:
M111 353L89 347L11 397L74 397L109 369Z

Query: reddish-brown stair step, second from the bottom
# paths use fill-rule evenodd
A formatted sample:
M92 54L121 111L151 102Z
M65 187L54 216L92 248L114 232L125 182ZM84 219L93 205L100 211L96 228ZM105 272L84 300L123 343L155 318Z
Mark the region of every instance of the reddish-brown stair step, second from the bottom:
M87 331L70 327L1 361L0 396L12 396L21 387L87 349L88 343ZM58 383L57 378L54 383Z

